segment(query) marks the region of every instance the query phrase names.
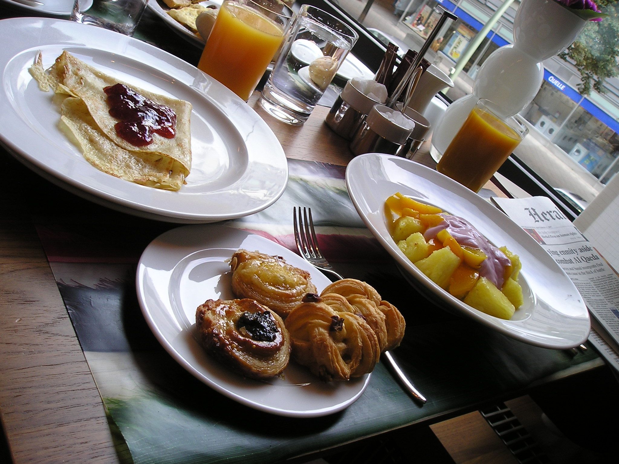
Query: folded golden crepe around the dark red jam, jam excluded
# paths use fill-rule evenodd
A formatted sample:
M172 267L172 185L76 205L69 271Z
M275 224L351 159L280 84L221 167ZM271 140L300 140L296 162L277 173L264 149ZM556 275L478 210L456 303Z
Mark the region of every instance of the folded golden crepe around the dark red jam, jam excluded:
M30 74L41 90L70 95L61 108L61 128L99 170L150 187L178 190L191 169L191 104L157 95L119 81L85 64L66 51L45 71L39 54ZM118 119L110 115L103 88L124 84L143 97L170 107L176 113L176 135L153 134L149 145L137 147L116 134Z

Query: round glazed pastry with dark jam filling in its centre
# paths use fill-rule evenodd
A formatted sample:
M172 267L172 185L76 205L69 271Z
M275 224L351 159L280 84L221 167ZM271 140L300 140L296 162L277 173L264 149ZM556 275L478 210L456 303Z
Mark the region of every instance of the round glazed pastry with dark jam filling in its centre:
M199 342L243 376L281 374L290 360L290 335L281 317L251 299L209 299L196 309Z

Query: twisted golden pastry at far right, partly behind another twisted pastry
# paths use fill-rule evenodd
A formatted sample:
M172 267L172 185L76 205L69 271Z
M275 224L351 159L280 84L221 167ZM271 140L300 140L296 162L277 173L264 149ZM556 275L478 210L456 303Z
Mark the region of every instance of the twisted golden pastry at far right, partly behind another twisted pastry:
M357 279L342 279L327 285L321 298L333 299L331 293L343 296L352 306L352 312L364 317L378 337L381 353L400 345L406 328L404 316L384 301L373 286Z

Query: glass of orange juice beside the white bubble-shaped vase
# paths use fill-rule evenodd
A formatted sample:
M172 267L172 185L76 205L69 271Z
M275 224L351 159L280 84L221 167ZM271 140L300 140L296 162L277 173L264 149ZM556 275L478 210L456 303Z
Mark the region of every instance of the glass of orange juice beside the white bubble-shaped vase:
M500 108L480 99L438 162L436 170L480 191L529 133L513 116L501 118Z

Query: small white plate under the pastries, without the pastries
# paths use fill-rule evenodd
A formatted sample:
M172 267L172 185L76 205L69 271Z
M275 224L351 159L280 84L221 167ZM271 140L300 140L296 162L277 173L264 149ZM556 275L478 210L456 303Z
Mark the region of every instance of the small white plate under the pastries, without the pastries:
M137 298L163 348L197 379L233 400L281 416L325 416L360 397L370 374L348 382L323 382L290 361L283 378L246 379L227 369L196 342L196 308L207 299L233 299L230 264L240 248L282 256L307 270L322 291L331 281L297 254L231 226L190 225L163 233L137 265Z

